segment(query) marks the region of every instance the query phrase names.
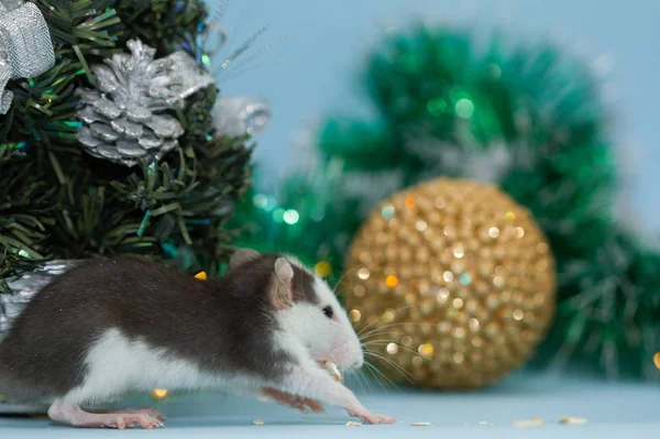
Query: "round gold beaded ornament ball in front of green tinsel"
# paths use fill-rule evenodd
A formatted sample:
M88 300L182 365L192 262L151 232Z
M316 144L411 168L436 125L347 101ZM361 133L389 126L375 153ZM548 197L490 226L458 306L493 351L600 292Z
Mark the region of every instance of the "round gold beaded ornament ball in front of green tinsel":
M531 215L495 186L440 178L382 202L343 282L388 380L471 388L520 366L554 314L554 261Z

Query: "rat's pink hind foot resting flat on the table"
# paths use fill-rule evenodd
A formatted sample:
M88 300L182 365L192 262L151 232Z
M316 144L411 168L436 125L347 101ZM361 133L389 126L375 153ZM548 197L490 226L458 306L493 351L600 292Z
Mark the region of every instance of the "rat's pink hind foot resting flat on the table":
M57 399L48 408L48 417L54 421L69 425L72 427L86 428L118 428L123 430L129 427L152 429L163 427L163 422L156 417L145 413L106 413L96 414L82 410L77 404Z

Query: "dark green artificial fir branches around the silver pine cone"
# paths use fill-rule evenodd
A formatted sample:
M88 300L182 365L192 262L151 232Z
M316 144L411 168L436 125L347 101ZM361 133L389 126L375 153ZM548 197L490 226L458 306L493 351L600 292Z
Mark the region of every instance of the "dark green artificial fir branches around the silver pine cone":
M0 116L0 293L3 278L50 259L134 254L174 259L209 275L221 271L232 234L223 224L251 179L246 138L216 138L211 86L178 112L186 133L158 164L127 168L84 153L78 98L89 66L140 37L165 56L185 50L207 64L204 2L35 1L55 44L55 65L9 83Z

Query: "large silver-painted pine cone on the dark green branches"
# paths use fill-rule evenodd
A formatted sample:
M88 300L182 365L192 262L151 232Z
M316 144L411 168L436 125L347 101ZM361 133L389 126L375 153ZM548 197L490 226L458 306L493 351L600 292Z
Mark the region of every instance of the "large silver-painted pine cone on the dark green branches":
M140 40L128 46L131 54L91 67L98 89L78 89L85 123L78 141L96 157L134 166L176 147L184 128L170 110L215 81L185 52L154 61L156 51Z

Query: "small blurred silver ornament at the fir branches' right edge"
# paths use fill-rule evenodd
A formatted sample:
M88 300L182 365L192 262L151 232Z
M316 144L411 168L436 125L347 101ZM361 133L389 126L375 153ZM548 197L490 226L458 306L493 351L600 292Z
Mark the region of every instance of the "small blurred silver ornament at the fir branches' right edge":
M211 117L218 134L258 134L271 123L271 109L262 99L237 97L216 100Z

